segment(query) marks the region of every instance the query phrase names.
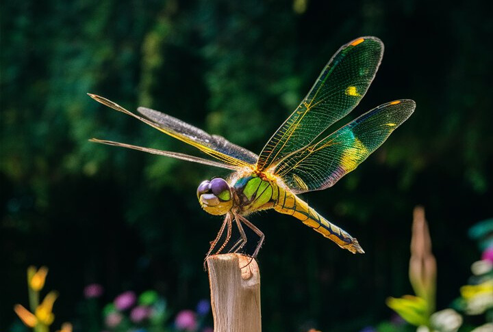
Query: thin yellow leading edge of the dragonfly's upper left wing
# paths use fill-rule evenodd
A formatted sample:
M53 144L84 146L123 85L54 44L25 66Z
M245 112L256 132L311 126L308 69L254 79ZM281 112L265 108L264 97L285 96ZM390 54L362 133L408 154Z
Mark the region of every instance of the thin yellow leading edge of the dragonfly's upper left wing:
M240 159L237 159L237 158L234 158L232 156L228 156L227 154L223 154L222 152L218 152L216 150L213 150L212 148L209 148L208 146L204 146L201 143L198 143L197 141L194 141L193 139L190 139L184 135L180 135L179 133L173 133L169 130L166 130L165 128L161 128L160 126L157 126L156 124L145 119L144 117L140 117L134 113L131 113L130 111L127 111L127 109L116 104L116 102L112 102L111 100L108 100L108 99L103 98L101 96L97 96L95 94L88 94L88 95L91 98L93 98L94 100L96 100L97 102L101 102L101 104L108 106L108 107L111 107L112 109L114 109L116 111L120 111L122 113L130 115L131 117L135 117L136 119L144 122L145 124L148 124L149 126L155 128L157 130L160 130L162 133L165 133L166 135L170 135L171 137L174 137L175 139L179 139L180 141L188 143L188 144L190 144L190 146L194 146L195 148L201 150L205 154L213 156L214 158L217 158L220 161L228 163L229 165L235 165L238 167L249 167L249 169L253 169L253 165L247 163L246 161L240 161Z

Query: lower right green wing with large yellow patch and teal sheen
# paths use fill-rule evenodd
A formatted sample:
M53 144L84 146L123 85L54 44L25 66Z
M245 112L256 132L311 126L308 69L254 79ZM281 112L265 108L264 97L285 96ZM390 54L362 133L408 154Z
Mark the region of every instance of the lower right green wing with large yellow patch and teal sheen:
M415 107L413 100L396 100L372 109L318 143L287 156L274 174L294 193L333 186L377 150Z

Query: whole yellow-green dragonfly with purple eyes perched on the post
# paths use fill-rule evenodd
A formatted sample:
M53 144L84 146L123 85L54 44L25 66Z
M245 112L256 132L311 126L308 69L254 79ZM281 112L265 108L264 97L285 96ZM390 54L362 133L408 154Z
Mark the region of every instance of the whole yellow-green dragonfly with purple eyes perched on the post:
M356 238L325 219L299 194L336 184L414 112L413 100L394 100L360 115L330 135L323 135L329 126L358 105L375 77L382 56L383 43L372 36L356 38L341 46L312 89L258 155L160 111L138 107L138 115L94 94L89 96L190 144L206 158L102 139L90 141L231 170L228 178L205 180L197 188L203 210L225 216L207 257L225 251L241 253L248 241L244 227L257 236L255 249L249 253L257 257L265 236L246 217L268 209L299 219L342 249L364 253ZM239 236L231 240L233 225Z

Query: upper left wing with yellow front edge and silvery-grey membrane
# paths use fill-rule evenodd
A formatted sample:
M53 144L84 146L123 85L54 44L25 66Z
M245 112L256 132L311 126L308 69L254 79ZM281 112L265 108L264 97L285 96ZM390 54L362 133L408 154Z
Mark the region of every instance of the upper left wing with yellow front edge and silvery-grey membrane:
M175 117L166 115L164 113L154 111L153 109L146 109L144 107L139 107L138 111L142 113L145 117L131 113L124 109L120 105L94 94L89 94L91 98L101 102L101 104L111 107L116 111L123 112L131 117L162 131L163 133L175 137L180 141L194 146L195 148L201 150L205 154L209 154L214 158L233 165L235 167L249 167L253 168L253 164L257 161L257 155L244 149L236 144L227 141L224 137L217 135L209 135L205 131L187 124Z

